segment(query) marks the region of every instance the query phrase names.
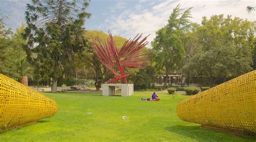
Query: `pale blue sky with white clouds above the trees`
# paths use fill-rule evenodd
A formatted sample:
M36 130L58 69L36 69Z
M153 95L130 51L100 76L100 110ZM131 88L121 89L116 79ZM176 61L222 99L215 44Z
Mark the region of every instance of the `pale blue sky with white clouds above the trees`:
M4 22L6 27L16 28L25 22L26 3L29 0L0 0L0 13L9 16ZM99 30L107 33L110 29L114 36L130 38L138 33L149 34L149 41L156 37L156 31L167 24L172 9L181 4L181 8L193 7L192 22L201 23L203 16L224 14L255 21L255 12L247 13L246 6L256 6L255 0L91 0L87 12L92 14L86 20L86 30Z

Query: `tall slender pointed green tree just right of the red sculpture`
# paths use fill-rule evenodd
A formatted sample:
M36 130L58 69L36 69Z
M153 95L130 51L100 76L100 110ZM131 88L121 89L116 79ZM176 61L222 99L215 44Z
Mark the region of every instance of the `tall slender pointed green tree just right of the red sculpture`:
M189 20L192 18L191 9L181 12L183 9L180 8L180 5L177 5L173 9L167 25L156 32L157 36L152 42L157 66L165 70L166 77L163 89L166 88L169 74L178 69L181 60L185 56L184 32L191 26Z

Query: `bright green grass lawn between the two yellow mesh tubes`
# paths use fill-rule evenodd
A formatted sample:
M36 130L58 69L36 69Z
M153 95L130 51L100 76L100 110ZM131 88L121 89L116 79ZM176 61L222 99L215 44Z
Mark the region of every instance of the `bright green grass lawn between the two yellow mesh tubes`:
M44 93L57 102L56 115L0 133L0 141L255 141L180 120L176 105L189 96L178 94L173 99L157 93L160 102L139 101L151 94Z

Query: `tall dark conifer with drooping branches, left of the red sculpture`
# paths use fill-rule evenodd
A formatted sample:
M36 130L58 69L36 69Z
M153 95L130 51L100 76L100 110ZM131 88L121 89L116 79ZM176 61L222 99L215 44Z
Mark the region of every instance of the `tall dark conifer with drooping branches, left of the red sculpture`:
M52 78L52 92L57 91L57 79L72 72L74 55L86 44L82 26L90 17L85 11L88 5L76 0L32 0L26 6L24 49L33 66Z

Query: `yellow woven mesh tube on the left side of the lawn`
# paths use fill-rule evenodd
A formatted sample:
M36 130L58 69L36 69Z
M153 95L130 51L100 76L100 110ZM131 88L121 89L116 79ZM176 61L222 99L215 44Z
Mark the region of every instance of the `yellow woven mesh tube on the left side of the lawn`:
M0 130L53 116L57 104L50 98L0 74Z

